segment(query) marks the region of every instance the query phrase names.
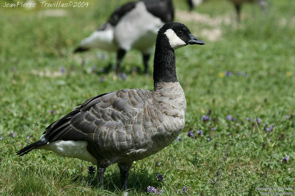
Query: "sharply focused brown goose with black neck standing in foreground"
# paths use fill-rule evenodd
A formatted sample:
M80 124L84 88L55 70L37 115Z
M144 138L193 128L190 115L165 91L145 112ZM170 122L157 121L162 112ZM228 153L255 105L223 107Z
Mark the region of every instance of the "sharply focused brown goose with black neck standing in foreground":
M133 161L162 150L183 130L186 100L176 77L174 50L188 44L205 43L184 24L164 24L156 39L153 91L123 89L94 96L16 153L38 148L97 164L100 187L106 168L118 163L125 191Z

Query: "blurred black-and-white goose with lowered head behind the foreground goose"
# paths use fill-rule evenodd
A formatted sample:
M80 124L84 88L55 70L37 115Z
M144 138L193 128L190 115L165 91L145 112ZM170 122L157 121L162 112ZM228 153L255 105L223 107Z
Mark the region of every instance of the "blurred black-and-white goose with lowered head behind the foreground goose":
M117 51L116 72L127 51L136 48L143 53L144 73L148 72L148 60L157 32L174 17L172 0L140 0L117 8L106 24L83 39L74 52L92 48Z

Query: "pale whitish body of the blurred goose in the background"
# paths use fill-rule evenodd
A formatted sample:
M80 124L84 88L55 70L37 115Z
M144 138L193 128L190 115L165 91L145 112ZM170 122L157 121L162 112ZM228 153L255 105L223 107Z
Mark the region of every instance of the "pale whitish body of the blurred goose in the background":
M145 22L143 22L145 21ZM156 41L157 32L164 22L146 10L143 2L122 17L114 27L114 40L126 51L132 47L148 52Z

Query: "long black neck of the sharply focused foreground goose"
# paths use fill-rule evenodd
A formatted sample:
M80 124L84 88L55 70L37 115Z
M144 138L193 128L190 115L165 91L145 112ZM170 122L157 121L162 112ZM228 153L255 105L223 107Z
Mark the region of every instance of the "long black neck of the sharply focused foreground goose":
M165 35L156 40L153 79L154 89L159 82L178 82L174 49Z

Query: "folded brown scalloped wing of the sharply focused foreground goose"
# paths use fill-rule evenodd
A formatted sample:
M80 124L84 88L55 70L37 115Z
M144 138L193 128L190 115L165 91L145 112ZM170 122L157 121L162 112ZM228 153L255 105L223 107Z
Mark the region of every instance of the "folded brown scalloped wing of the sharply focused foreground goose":
M101 126L113 129L116 125L141 123L136 113L142 112L142 105L149 98L151 91L142 89L124 89L92 97L49 125L44 138L49 142L85 141L87 134L94 134Z

